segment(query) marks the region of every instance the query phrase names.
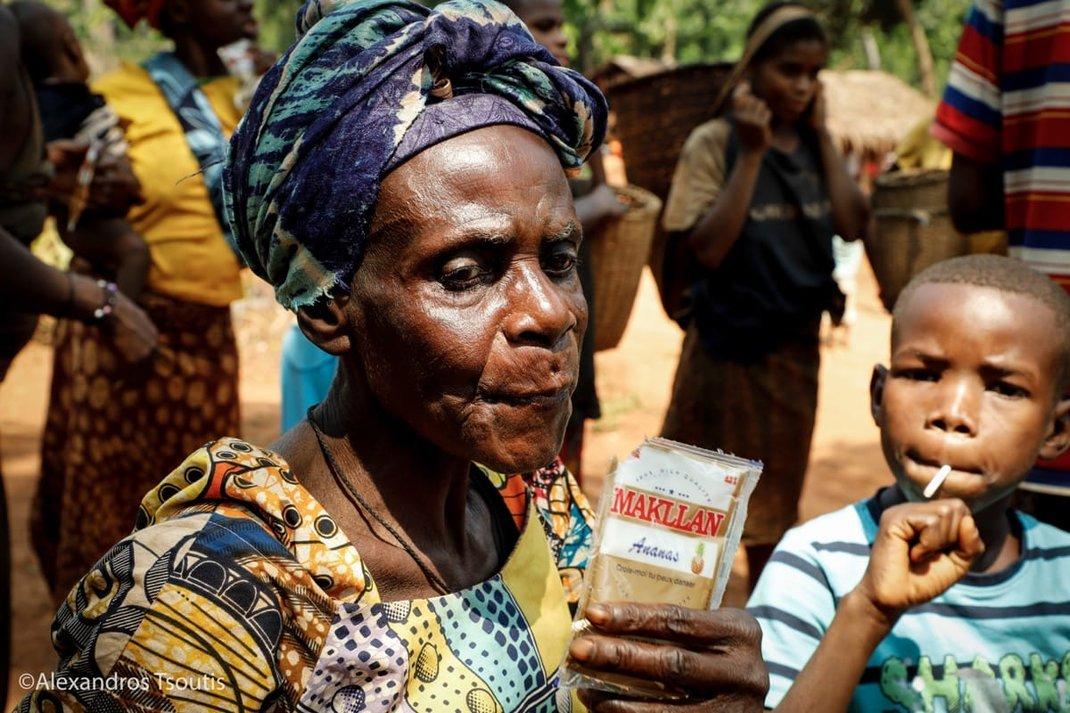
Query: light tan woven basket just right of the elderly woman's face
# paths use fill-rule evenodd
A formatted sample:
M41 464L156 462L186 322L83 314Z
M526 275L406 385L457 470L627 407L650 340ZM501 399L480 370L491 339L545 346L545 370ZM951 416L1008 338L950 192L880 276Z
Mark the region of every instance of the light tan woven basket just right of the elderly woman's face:
M648 191L631 185L615 189L631 206L621 217L607 221L591 242L595 351L614 348L624 336L661 213L661 200Z

